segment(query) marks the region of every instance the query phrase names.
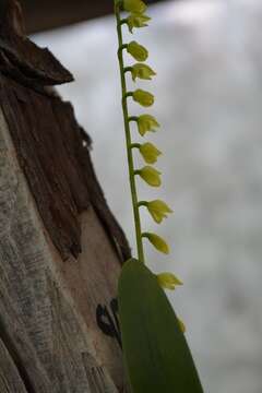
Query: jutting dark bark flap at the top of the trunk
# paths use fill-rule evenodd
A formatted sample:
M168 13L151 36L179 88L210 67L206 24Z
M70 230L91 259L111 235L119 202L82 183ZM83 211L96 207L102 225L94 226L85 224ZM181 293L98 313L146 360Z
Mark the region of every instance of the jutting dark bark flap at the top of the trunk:
M20 3L4 0L0 9L0 70L19 82L39 88L73 80L72 74L47 49L25 36Z

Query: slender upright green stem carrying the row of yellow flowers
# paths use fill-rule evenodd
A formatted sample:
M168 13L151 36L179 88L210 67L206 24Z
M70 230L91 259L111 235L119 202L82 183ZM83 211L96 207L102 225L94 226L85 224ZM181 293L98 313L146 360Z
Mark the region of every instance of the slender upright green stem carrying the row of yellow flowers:
M134 226L135 226L135 237L136 237L136 248L138 248L138 258L141 262L144 263L144 250L143 250L143 241L142 241L142 230L141 230L141 219L140 212L138 207L138 192L134 179L134 164L133 164L133 155L132 155L132 141L131 141L131 132L129 124L129 112L128 112L128 103L127 103L127 83L124 76L124 64L123 64L123 56L122 49L127 48L122 41L122 31L121 31L121 19L120 19L120 10L117 2L115 3L115 13L117 17L117 33L118 33L118 44L120 50L118 50L118 60L121 75L121 87L122 87L122 111L123 111L123 120L124 120L124 132L126 132L126 142L127 142L127 154L128 154L128 164L129 164L129 181L132 196L132 205L133 205L133 216L134 216Z

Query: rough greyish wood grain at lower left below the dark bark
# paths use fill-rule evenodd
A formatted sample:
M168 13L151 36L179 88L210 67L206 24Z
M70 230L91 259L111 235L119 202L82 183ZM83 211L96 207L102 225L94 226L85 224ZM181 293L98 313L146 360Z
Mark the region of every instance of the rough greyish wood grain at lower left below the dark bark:
M92 372L97 384L117 392L62 274L63 262L55 262L60 255L43 226L2 111L0 206L0 338L11 343L14 362L23 365L37 393L95 392Z

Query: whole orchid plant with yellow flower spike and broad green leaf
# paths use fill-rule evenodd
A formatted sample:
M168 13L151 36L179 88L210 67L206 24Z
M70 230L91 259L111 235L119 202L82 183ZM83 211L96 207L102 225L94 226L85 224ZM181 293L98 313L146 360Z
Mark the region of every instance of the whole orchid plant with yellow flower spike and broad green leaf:
M203 393L183 334L184 325L177 318L164 291L175 289L182 283L172 273L154 274L145 265L144 239L165 254L169 253L169 246L160 236L142 230L141 209L146 209L156 224L160 224L172 213L167 203L159 199L141 201L136 190L138 178L151 187L162 184L162 174L154 166L162 152L148 141L133 141L135 132L146 138L147 133L159 128L159 123L151 114L133 116L129 112L130 99L147 108L154 104L154 95L141 88L127 90L129 75L134 83L136 80L151 81L156 75L145 63L148 58L147 49L135 40L123 43L124 26L131 34L135 28L147 26L151 17L145 12L146 4L142 0L115 0L122 112L138 248L136 259L131 258L124 263L118 283L122 348L133 393ZM124 64L124 51L138 62ZM143 167L134 167L135 150L145 163Z

